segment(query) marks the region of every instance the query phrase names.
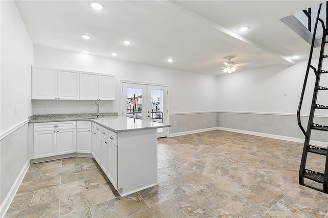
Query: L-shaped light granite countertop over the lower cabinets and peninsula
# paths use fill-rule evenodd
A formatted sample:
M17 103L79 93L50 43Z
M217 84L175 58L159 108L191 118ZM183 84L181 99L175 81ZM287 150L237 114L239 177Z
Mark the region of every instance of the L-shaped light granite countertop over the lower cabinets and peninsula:
M115 133L141 129L170 127L171 124L151 122L130 117L118 116L117 113L104 113L104 117L95 118L95 114L49 114L29 117L31 123L62 122L62 121L92 121Z

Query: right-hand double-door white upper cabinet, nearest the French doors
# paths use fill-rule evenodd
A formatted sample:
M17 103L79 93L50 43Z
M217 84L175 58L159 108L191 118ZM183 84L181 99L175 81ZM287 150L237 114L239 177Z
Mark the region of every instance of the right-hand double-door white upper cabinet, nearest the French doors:
M81 100L115 100L115 76L80 72Z

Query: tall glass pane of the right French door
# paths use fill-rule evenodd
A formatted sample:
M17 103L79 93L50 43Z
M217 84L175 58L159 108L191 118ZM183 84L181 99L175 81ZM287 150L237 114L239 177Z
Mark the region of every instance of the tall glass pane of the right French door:
M163 123L163 90L151 90L151 118L153 122ZM162 133L158 128L157 133Z

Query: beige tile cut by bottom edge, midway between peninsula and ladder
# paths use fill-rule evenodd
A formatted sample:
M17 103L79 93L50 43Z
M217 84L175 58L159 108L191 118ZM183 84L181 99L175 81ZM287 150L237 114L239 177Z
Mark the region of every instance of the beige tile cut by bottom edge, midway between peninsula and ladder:
M267 208L235 194L211 208L211 211L219 217L260 217Z

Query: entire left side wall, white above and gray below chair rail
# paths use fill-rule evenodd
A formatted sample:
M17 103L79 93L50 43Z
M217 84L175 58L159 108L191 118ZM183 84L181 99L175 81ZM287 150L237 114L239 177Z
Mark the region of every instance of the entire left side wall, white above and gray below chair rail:
M10 192L24 166L28 166L28 128L33 43L13 1L0 1L1 16L1 124L0 216L10 204ZM17 113L15 113L17 105ZM17 130L12 131L13 129ZM8 197L8 196L11 197ZM5 206L4 206L5 205Z

